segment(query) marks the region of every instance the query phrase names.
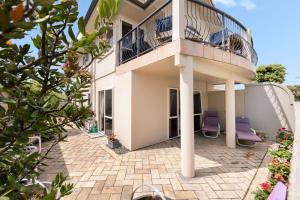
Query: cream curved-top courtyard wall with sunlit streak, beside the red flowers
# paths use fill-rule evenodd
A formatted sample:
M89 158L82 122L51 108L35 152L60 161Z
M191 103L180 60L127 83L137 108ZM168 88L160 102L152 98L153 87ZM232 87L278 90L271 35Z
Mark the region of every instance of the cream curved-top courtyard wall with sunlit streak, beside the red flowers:
M278 84L253 84L245 88L245 115L253 128L276 139L279 128L295 128L294 98L290 91Z

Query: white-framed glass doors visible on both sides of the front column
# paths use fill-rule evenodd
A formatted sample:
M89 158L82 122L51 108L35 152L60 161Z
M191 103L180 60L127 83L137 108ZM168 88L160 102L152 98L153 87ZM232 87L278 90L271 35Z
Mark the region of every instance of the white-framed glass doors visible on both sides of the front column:
M180 91L169 89L169 138L180 136ZM194 131L201 130L202 102L200 91L194 91Z

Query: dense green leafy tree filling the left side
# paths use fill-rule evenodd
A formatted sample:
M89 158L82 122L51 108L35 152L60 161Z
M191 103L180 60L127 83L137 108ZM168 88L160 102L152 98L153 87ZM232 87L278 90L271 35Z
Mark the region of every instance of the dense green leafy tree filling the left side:
M106 34L119 6L119 0L99 0L94 30L88 32L76 0L0 1L0 199L55 199L58 191L70 193L61 174L50 193L22 181L36 179L37 166L65 140L66 126L80 128L92 115L83 104L91 79L87 67L108 50ZM33 45L16 44L28 36ZM85 54L92 59L81 66L78 60ZM46 153L25 151L34 135L54 138Z

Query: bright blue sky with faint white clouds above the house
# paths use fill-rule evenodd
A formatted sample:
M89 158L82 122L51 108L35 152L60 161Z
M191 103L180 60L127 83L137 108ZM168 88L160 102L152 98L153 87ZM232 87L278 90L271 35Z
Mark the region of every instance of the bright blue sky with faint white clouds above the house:
M213 1L251 29L258 66L283 64L287 68L285 83L300 85L300 0ZM79 15L85 16L90 3L78 0Z

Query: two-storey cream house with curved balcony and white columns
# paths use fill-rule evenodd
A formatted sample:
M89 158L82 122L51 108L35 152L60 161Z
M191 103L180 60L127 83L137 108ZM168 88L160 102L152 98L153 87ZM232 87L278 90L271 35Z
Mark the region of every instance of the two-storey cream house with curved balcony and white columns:
M90 66L100 130L130 150L181 136L182 174L192 177L208 90L224 84L226 144L235 148L235 84L251 83L257 63L249 29L211 0L123 0L108 37L112 48Z

